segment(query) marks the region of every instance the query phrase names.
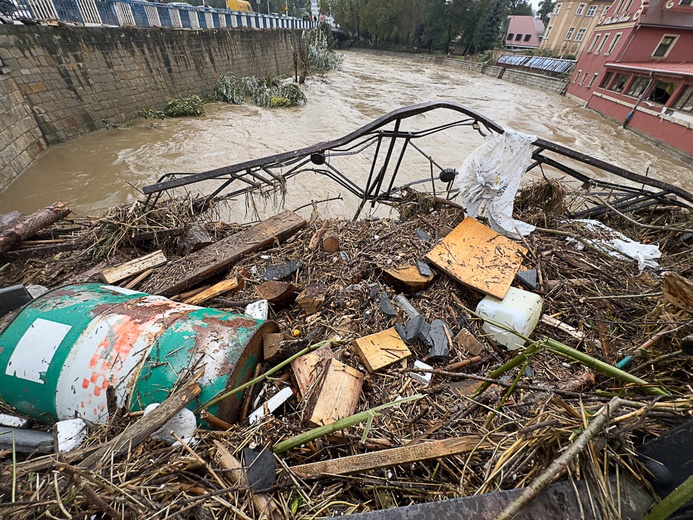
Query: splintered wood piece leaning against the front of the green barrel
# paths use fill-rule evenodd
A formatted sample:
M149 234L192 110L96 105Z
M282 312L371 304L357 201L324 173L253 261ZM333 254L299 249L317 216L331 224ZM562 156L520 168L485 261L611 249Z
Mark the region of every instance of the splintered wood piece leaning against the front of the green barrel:
M79 467L95 469L102 463L109 464L112 459L118 458L123 453L139 445L149 435L166 424L190 401L200 395L202 389L197 380L204 375L204 372L204 368L195 372L186 384L171 394L153 412L130 424L117 437L103 443L96 451L84 459L79 464Z

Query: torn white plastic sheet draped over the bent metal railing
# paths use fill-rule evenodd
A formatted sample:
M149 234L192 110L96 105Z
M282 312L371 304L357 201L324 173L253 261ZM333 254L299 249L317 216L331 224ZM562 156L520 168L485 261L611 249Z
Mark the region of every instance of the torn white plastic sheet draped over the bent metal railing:
M515 194L532 160L534 141L536 136L506 130L488 137L459 168L460 204L467 214L486 217L494 231L509 238L534 231L531 224L512 217Z

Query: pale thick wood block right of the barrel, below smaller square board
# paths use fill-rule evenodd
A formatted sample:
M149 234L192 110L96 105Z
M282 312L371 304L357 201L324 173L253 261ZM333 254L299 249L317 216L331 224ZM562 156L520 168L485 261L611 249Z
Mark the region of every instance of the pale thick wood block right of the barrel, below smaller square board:
M323 426L353 415L363 379L364 375L355 368L334 358L328 359L306 398L303 422Z

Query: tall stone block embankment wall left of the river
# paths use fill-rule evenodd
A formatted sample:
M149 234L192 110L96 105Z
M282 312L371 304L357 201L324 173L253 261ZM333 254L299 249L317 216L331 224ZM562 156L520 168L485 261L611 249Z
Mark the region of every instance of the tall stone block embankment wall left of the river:
M299 44L300 32L277 29L0 25L6 72L0 75L0 129L32 126L19 142L0 140L0 190L38 155L43 140L51 145L127 122L140 108L210 91L220 74L290 73ZM29 135L32 143L24 147Z

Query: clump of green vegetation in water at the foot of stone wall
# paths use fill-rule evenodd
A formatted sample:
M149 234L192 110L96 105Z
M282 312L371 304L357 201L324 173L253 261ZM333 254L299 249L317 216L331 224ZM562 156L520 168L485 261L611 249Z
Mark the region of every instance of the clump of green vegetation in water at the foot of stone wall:
M282 83L271 78L219 76L214 99L241 105L246 98L265 108L294 107L306 102L305 94L296 83Z

